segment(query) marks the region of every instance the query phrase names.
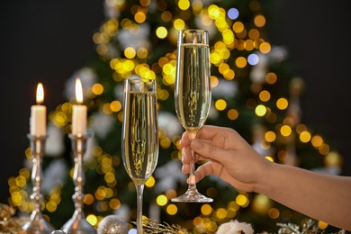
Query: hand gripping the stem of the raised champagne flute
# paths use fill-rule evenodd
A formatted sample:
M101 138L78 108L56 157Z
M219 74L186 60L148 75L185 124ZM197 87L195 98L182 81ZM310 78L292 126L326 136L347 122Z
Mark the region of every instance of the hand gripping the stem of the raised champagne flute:
M238 190L255 192L257 184L268 174L271 163L260 156L237 131L216 126L203 126L196 139L190 141L184 132L180 146L183 147L183 172L189 173L193 148L195 161L205 160L195 172L196 182L206 175L217 175Z

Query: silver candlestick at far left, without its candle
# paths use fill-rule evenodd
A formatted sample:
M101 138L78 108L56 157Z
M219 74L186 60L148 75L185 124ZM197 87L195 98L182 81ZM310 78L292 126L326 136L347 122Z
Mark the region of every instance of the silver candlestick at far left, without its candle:
M32 154L32 170L31 183L33 184L33 193L31 194L31 201L33 202L33 211L31 212L31 219L23 225L23 229L27 234L49 234L54 229L48 221L42 217L41 202L42 195L40 188L42 184L42 169L41 157L44 155L46 136L35 136L28 134L31 141Z

